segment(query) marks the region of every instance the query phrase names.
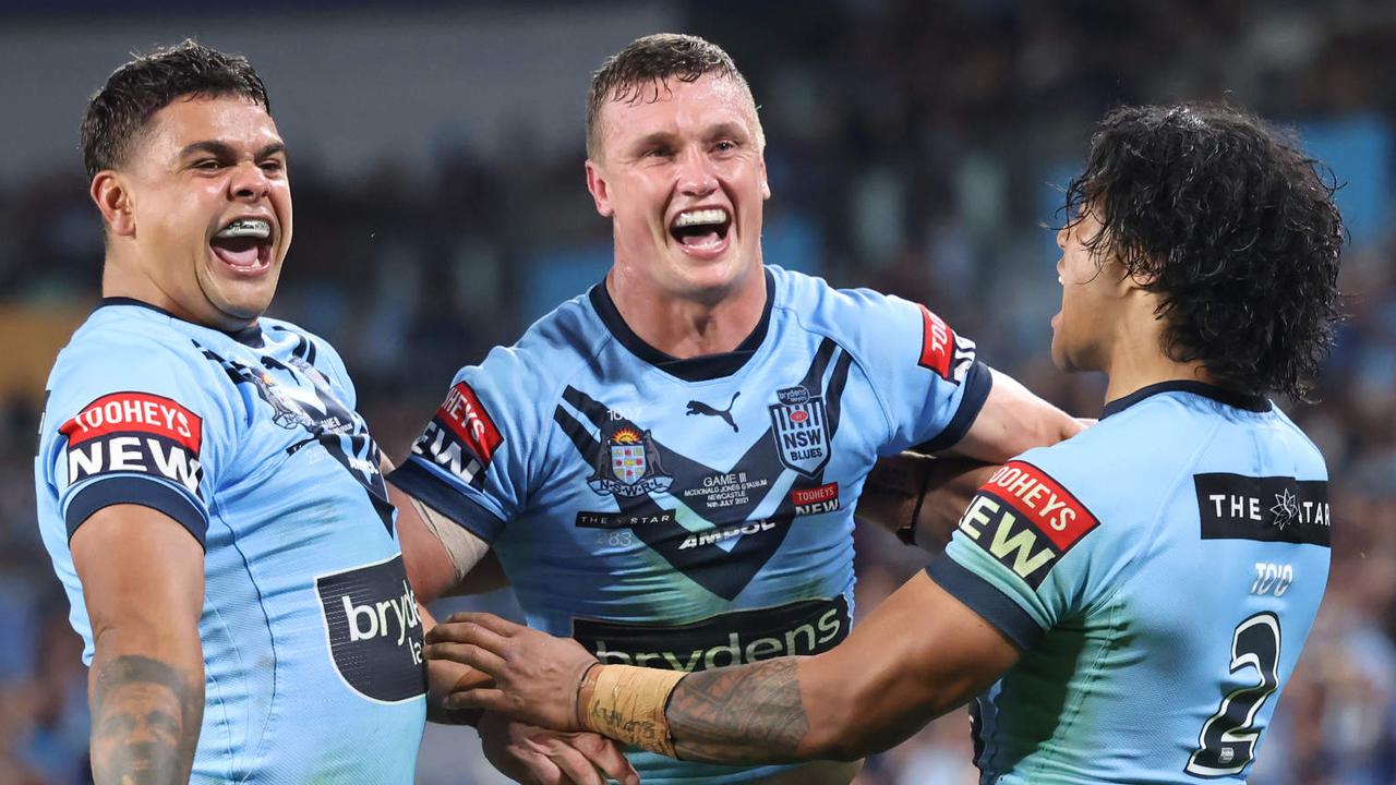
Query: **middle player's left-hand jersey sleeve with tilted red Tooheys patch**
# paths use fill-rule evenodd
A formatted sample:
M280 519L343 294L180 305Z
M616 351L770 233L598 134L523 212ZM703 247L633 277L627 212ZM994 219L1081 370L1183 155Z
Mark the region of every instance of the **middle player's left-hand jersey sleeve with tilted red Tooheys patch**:
M514 349L461 369L388 482L493 542L526 499L529 447L543 437L533 381Z

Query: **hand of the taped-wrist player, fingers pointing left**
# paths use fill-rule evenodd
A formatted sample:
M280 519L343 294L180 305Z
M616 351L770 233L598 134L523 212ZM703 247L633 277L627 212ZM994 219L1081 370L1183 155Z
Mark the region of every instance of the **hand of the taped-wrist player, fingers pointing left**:
M554 638L491 613L455 613L427 633L426 655L494 677L493 687L452 689L445 708L483 708L554 731L582 731L577 687L596 658L571 638Z

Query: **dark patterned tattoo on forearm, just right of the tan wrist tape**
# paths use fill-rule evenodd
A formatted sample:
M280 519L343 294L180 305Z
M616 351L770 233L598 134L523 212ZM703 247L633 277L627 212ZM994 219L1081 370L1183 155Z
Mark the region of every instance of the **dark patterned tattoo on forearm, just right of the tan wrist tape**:
M790 761L810 732L793 658L692 673L664 717L681 760Z

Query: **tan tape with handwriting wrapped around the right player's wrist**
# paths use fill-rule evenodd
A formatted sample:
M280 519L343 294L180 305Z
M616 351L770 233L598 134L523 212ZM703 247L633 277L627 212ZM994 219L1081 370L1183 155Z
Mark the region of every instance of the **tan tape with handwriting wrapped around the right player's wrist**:
M685 676L631 665L593 665L582 676L577 719L582 728L627 744L677 757L664 710Z

